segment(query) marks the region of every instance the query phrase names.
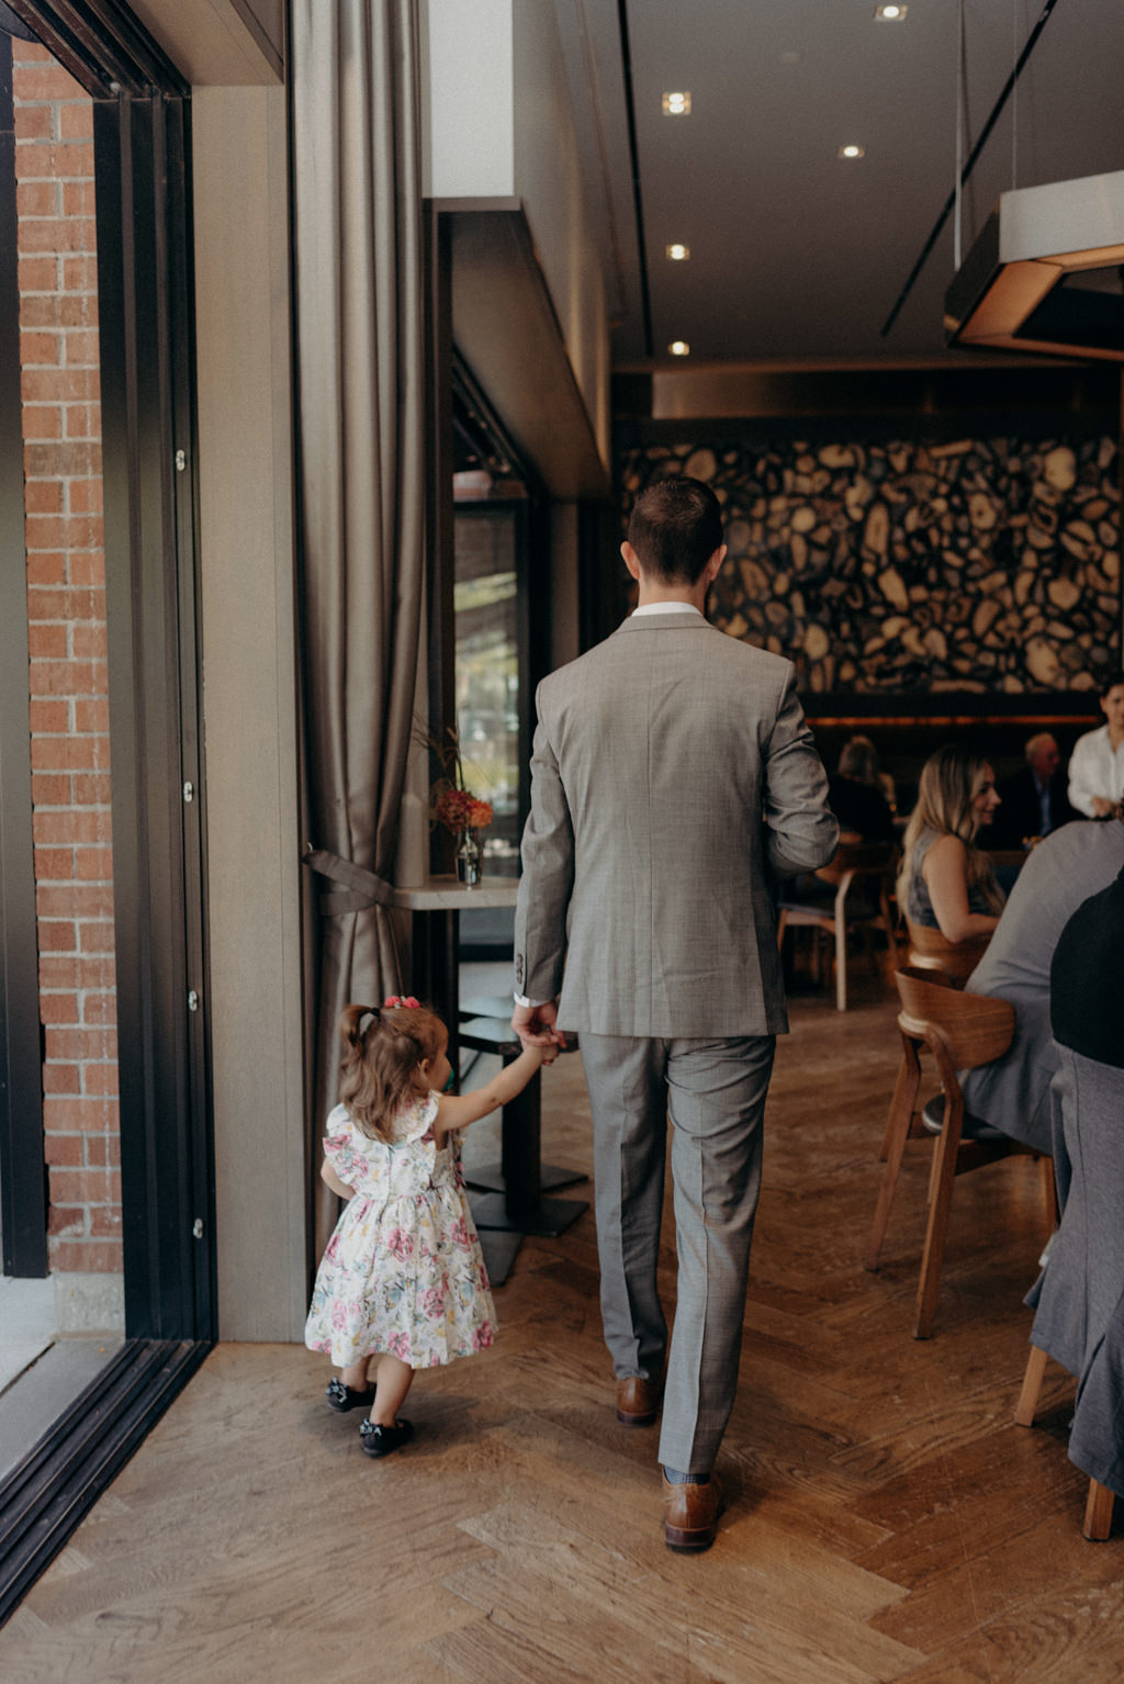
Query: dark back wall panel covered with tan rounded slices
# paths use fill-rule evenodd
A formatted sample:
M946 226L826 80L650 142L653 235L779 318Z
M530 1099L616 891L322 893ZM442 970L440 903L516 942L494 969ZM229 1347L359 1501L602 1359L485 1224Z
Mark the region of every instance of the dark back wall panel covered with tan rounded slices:
M671 473L725 509L713 618L804 690L1090 690L1121 665L1111 438L646 445L626 509Z

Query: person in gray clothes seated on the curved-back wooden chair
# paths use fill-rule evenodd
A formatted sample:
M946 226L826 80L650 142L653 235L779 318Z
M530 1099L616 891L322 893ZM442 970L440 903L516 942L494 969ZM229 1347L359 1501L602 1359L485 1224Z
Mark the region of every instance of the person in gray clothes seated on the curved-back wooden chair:
M1050 963L1070 916L1124 867L1124 822L1082 822L1048 835L1023 866L1011 898L966 983L1015 1007L1015 1039L1003 1058L964 1071L964 1110L1038 1152L1052 1150ZM1063 1187L1058 1189L1063 1194Z

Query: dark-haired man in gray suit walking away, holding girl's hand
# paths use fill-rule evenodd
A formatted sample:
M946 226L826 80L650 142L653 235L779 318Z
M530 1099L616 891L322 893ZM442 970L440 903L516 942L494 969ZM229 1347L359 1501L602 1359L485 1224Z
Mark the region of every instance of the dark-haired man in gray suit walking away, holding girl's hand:
M648 487L621 552L639 583L636 611L538 687L512 1022L528 1044L581 1034L601 1310L628 1426L660 1411L671 1115L665 1539L705 1549L737 1388L766 1091L787 1031L772 879L823 866L838 827L793 663L703 618L725 556L713 492L688 478Z

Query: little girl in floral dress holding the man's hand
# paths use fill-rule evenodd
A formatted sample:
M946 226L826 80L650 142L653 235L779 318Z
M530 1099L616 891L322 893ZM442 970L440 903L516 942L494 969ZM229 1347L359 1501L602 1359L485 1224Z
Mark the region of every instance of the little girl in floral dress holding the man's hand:
M495 1339L456 1130L513 1100L557 1049L523 1051L485 1088L454 1096L444 1091L449 1032L417 1000L348 1005L340 1031L340 1103L328 1116L321 1175L350 1202L316 1273L305 1344L343 1369L328 1384L333 1410L370 1404L362 1447L385 1457L414 1435L397 1413L414 1369Z

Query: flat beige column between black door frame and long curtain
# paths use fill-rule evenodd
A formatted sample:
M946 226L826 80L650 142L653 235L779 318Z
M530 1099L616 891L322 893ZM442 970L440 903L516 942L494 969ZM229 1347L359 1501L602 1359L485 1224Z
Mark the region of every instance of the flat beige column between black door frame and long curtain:
M192 94L222 1339L300 1339L303 1145L284 89Z

